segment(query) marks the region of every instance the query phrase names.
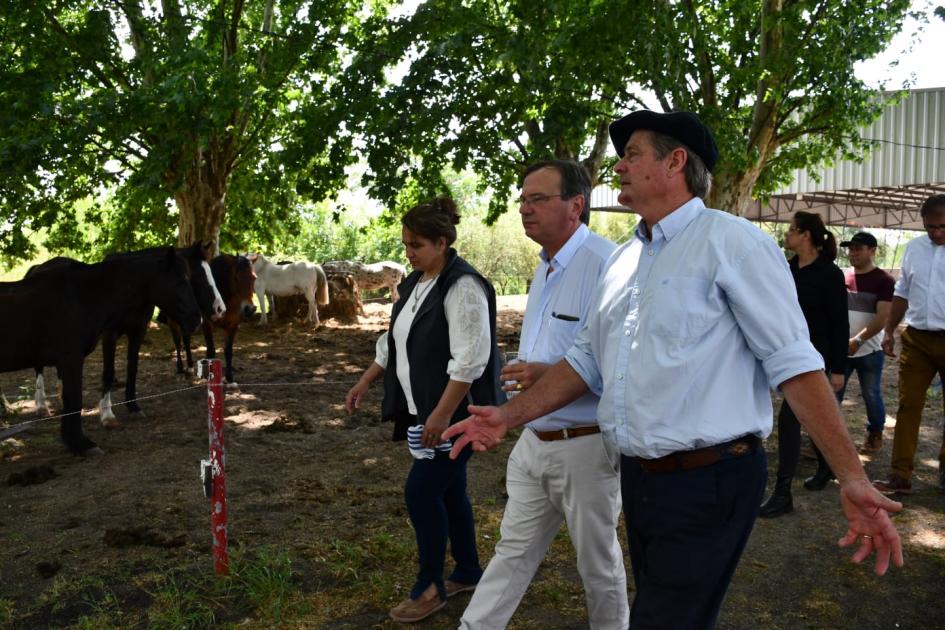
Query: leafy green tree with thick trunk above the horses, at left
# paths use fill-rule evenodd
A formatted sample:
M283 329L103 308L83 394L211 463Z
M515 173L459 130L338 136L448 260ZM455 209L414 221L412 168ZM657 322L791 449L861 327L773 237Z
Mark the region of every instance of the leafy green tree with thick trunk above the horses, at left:
M229 234L265 237L297 220L299 199L344 185L352 136L330 94L360 36L354 3L0 7L5 256L30 254L38 230L81 250L80 221L111 248L175 228L181 244L216 240L225 217Z

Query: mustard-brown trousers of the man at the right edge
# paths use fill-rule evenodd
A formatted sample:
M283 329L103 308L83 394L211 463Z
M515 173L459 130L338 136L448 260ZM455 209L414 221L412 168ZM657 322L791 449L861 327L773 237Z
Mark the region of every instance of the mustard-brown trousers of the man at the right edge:
M945 334L906 328L899 357L899 411L893 435L892 472L911 479L919 443L925 396L935 374L945 376ZM945 436L939 450L945 461Z

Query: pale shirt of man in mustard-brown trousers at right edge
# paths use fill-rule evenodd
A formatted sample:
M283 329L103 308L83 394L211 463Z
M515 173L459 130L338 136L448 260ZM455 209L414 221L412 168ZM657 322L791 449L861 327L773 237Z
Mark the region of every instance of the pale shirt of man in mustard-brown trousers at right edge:
M945 245L936 245L928 234L906 243L894 295L909 301L906 325L945 330Z

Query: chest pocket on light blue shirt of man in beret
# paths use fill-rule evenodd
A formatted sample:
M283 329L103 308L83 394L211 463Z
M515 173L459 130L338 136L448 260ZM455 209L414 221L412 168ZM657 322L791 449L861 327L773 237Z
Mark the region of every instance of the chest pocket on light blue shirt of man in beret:
M650 331L682 344L702 336L711 322L709 281L680 276L662 278L658 282L645 311Z

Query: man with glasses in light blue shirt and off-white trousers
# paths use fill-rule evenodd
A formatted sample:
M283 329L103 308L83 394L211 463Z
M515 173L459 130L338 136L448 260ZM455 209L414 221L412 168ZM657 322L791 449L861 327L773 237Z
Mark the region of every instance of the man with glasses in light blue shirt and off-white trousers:
M564 357L587 320L616 248L586 225L590 193L590 176L578 162L552 160L525 171L519 213L525 234L542 250L519 341L518 356L526 359L503 369L502 380L514 383L507 390L535 383ZM501 539L461 628L508 624L562 522L577 552L590 627L627 627L627 574L617 539L620 456L601 437L598 400L587 392L522 431L508 461Z

